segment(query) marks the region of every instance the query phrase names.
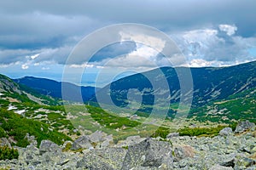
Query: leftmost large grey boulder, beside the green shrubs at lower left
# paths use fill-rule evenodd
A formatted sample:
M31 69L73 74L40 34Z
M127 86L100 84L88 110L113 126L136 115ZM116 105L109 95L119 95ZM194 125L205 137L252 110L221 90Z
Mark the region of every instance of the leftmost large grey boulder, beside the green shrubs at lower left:
M39 147L39 154L43 155L45 152L54 152L55 154L61 153L61 148L58 144L49 140L42 140Z

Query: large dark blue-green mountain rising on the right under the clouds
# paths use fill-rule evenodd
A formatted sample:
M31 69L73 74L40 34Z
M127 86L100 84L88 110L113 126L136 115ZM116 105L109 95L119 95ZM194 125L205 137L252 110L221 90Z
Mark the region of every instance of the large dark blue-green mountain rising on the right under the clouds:
M139 111L150 113L153 106L160 108L160 105L158 104L161 103L161 100L168 99L171 106L169 116L172 117L177 111L177 105L179 104L181 97L181 89L176 71L184 71L188 69L191 71L191 75L193 77L194 92L191 111L194 113L196 109L201 108L202 106L209 106L215 101L217 102L232 98L234 95L240 95L245 93L247 90L256 87L256 61L253 61L230 67L177 67L175 69L172 67L163 67L160 68L160 71L163 72L162 75L159 75L159 71L157 70L138 73L108 84L108 86L99 90L97 95L101 97L101 102L104 104L111 105L111 103L108 102L108 99L111 98L115 105L126 107L127 109L127 106L129 107L127 94L130 89L136 88L142 93L143 99L143 105L140 106ZM158 89L154 89L148 79L153 80L153 83L158 84L160 87ZM161 83L164 82L165 79L170 87L171 95L168 94L169 89L165 89L164 87L161 88ZM157 99L159 99L159 101L154 101L155 95L158 96ZM183 95L183 97L186 98L186 94ZM246 96L244 97L246 98ZM134 100L136 101L137 99L134 98ZM96 102L96 97L93 97L90 101ZM253 107L253 105L247 102L244 105L248 106L241 107L239 111L247 111L247 107ZM231 105L225 106L232 107ZM210 108L212 107L210 106ZM229 108L226 109L229 110ZM207 111L210 110L211 109ZM206 110L199 109L198 111L205 112ZM190 112L190 114L192 114L192 112ZM255 114L255 112L253 114ZM241 117L242 116L235 116L235 118Z

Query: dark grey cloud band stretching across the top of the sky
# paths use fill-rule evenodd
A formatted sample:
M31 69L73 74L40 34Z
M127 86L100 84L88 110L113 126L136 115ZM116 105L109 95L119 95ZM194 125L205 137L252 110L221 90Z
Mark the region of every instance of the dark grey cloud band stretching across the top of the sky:
M139 22L151 26L184 27L205 26L212 23L236 24L245 35L255 34L256 2L253 0L209 1L22 1L1 2L3 14L45 14L72 17L87 16L103 22ZM228 22L228 23L227 23ZM229 23L230 22L230 23ZM250 26L247 26L247 25Z

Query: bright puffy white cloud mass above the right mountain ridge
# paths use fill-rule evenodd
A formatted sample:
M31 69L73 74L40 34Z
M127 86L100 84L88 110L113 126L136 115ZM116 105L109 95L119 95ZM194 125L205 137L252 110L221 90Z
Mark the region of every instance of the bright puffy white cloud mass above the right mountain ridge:
M220 30L208 28L179 32L171 37L191 66L236 65L256 59L249 53L250 48L256 47L256 37L234 35L236 26L221 27L226 30L226 36Z

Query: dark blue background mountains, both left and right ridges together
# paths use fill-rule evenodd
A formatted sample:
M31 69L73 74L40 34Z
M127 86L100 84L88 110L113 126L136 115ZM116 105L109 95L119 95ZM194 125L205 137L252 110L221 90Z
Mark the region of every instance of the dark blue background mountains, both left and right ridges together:
M177 76L177 72L182 71L191 72L193 82L188 89L193 89L193 92L181 94L181 77ZM120 78L104 88L80 87L69 82L63 84L70 89L68 99L71 101L79 101L81 91L84 102L92 105L97 105L97 102L114 104L144 116L149 115L154 107L160 111L162 101L167 101L170 106L167 116L172 118L177 114L181 99L193 97L190 99L189 117L199 121L230 122L244 117L255 119L255 75L256 61L253 61L227 67L162 67ZM23 77L14 81L25 91L29 87L29 91L34 91L34 94L61 99L61 82L38 77ZM168 86L163 85L165 81ZM157 88L153 86L155 84ZM130 95L132 90L135 91ZM139 107L134 109L130 105L131 100Z

